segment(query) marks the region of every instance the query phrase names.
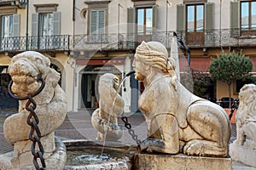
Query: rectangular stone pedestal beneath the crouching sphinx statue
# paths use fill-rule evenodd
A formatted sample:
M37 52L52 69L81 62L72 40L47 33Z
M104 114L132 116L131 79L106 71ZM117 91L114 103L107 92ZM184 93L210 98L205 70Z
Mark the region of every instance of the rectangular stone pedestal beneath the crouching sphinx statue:
M137 154L135 156L135 168L138 170L229 170L232 169L232 161L231 158L185 156L183 154L176 156Z

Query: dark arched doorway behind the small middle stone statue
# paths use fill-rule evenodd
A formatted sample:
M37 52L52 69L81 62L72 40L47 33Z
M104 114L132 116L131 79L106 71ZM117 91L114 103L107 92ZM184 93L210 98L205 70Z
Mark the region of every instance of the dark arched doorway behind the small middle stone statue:
M97 108L99 95L97 84L105 73L113 73L121 80L121 72L113 65L87 65L81 74L81 108Z

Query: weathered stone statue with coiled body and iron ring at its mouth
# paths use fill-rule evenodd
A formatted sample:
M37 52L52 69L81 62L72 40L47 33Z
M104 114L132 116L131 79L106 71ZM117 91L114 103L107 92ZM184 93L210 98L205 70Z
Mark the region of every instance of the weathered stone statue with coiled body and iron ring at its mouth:
M49 59L37 52L28 51L15 55L9 64L9 74L13 80L11 91L20 97L35 93L42 83L37 80L38 74L41 74L45 87L33 99L37 104L35 113L39 119L38 128L41 132L40 141L44 147L44 160L47 169L63 169L66 151L56 149L54 131L61 126L66 117L67 99L66 94L58 85L59 73L51 69L49 65ZM26 102L27 99L20 100L19 113L9 116L3 123L4 137L14 145L12 168L33 167L32 141L28 135L31 127L26 123L30 112L26 111Z

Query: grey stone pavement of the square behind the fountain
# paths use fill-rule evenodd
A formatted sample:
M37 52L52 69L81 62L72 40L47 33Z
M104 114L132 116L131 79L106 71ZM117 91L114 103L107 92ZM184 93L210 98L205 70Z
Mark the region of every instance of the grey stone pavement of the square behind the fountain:
M3 137L3 124L1 124L0 114L0 155L13 150L13 146L6 142ZM138 139L143 140L147 137L146 123L144 122L144 117L141 113L136 113L133 116L128 117L128 122L131 123L131 127L134 129L135 134L137 134ZM119 119L119 125L124 126L124 122ZM124 127L125 129L125 127ZM68 139L96 139L96 130L91 126L90 123L90 112L76 112L68 113L65 121L62 123L61 127L55 130L55 135L62 140ZM232 134L230 142L236 139L236 124L232 124ZM131 138L131 135L125 130L123 137L120 141L126 144L136 144L136 142ZM236 170L256 170L255 167L248 167L239 162L232 162L233 169Z

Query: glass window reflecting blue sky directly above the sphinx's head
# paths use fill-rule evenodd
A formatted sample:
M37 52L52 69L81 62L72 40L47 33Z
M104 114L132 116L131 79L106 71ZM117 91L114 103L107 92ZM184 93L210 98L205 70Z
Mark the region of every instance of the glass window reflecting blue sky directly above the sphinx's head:
M137 35L150 35L153 31L153 8L137 8Z

